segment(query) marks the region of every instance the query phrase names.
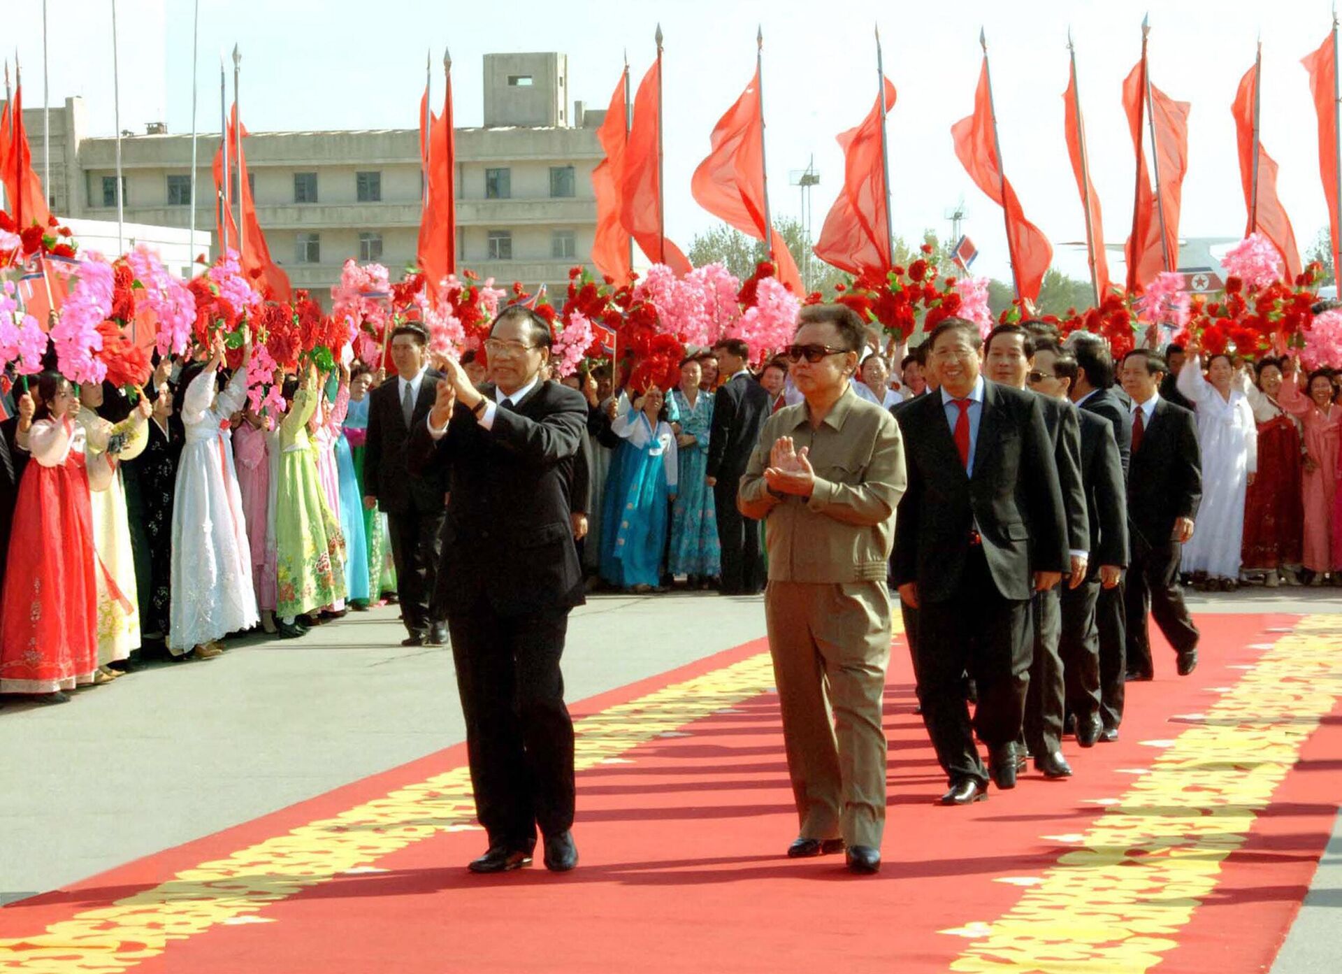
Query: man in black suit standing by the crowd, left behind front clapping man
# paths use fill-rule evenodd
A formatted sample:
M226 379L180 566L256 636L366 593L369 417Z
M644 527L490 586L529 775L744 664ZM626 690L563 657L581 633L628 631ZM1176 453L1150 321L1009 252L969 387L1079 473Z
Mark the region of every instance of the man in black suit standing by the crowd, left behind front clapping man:
M396 377L373 389L368 401L364 507L381 506L386 514L396 592L409 633L401 645L443 645L447 627L429 604L442 550L443 484L412 476L405 464L405 443L424 424L442 376L425 368L428 331L423 325L397 326L391 347Z

